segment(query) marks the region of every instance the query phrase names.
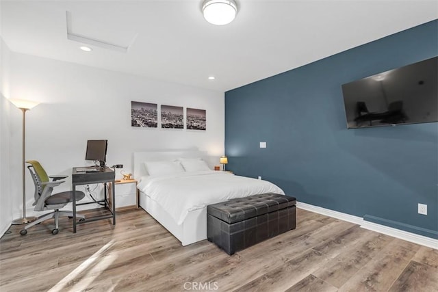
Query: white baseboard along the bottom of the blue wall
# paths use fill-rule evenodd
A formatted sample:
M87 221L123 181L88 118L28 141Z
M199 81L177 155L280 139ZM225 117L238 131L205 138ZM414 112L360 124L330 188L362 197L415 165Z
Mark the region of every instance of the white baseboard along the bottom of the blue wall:
M307 203L303 203L303 202L297 202L296 207L303 209L303 210L326 215L329 217L334 217L336 219L344 220L346 222L351 222L353 224L358 224L361 226L361 228L372 230L372 231L375 231L377 233L382 233L384 235L389 235L391 237L396 237L398 239L403 239L406 241L410 241L413 243L424 245L424 246L427 246L428 248L438 249L438 239L433 239L430 237L425 237L423 235L417 235L415 233L409 233L407 231L388 227L385 225L372 223L372 222L363 220L362 217L357 217L354 215L349 215L346 213L333 211L333 210L325 209L325 208L318 207L318 206L313 206L311 204L307 204Z

